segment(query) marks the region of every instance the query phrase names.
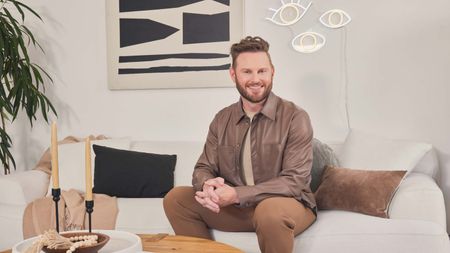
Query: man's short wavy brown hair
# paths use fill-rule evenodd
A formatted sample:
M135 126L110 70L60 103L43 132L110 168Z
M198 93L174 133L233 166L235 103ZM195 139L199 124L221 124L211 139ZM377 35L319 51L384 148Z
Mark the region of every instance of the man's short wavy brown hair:
M265 52L269 57L270 65L272 59L269 54L269 43L259 36L247 36L239 43L234 43L230 48L231 58L233 60L232 67L236 67L236 59L241 53L245 52Z

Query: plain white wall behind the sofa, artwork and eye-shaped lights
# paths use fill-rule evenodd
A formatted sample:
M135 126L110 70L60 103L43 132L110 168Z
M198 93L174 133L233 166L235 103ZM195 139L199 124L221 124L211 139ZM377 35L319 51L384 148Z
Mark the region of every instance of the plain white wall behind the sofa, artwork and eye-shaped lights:
M215 112L238 98L233 88L110 91L104 1L27 2L45 22L29 23L46 50L38 62L54 77L47 94L59 113L60 137L203 140ZM267 8L279 5L279 0L245 1L247 34L271 43L274 91L310 113L316 137L343 140L346 59L351 126L433 143L450 221L450 1L316 0L292 28L265 20ZM346 30L317 25L320 14L332 8L351 15ZM310 27L324 33L325 47L309 55L292 50L290 40ZM49 127L37 123L30 131L21 119L10 129L18 170L32 168L48 146Z

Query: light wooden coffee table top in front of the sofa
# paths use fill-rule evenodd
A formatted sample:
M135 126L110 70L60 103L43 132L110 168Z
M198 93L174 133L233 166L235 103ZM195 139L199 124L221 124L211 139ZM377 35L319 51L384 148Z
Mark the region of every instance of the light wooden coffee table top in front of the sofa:
M169 253L243 253L232 246L211 240L168 234L138 234L144 251ZM11 250L0 253L11 253Z

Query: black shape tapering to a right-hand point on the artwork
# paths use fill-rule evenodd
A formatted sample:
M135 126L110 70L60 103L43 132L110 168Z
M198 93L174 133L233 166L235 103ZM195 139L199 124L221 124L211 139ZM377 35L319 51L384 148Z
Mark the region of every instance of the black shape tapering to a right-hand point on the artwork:
M150 19L120 19L120 47L161 40L179 29Z

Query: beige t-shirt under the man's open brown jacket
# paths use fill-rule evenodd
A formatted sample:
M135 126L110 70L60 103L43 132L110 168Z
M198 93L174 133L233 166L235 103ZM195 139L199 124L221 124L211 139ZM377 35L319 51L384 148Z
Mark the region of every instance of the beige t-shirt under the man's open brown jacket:
M248 128L248 131L245 134L245 139L241 151L242 176L247 185L255 185L255 181L253 179L252 150L250 144L250 136L252 131L251 123L256 113L245 111L245 114L247 114L247 116L250 118L250 127Z

